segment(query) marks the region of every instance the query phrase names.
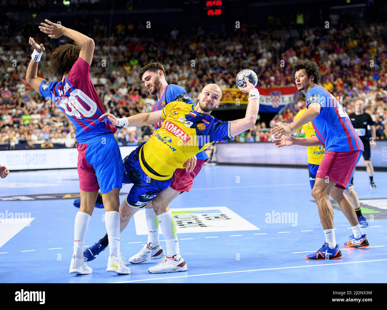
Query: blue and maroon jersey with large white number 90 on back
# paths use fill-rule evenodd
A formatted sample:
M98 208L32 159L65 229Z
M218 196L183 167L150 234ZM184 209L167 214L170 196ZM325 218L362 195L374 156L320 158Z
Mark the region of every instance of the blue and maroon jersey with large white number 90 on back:
M41 82L39 92L67 115L75 126L75 138L78 143L85 143L95 136L115 133L116 128L106 119L99 120L105 113L101 99L90 79L90 66L78 58L60 82Z

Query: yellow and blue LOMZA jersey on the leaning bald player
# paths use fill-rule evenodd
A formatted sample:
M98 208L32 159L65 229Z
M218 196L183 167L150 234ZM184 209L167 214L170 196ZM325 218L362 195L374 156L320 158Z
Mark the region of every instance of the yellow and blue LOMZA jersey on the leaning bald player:
M140 148L142 170L156 180L168 180L184 162L215 141L231 140L230 122L195 111L194 104L173 101L163 108L163 126Z

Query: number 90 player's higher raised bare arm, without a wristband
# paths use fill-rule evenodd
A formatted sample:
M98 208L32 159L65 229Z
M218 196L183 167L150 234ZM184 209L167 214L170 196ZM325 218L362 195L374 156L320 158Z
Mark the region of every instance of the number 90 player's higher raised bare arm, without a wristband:
M66 36L70 39L73 39L75 43L80 46L79 57L91 65L94 54L94 41L84 34L66 28L61 24L55 24L50 22L50 20L45 19L46 23L40 23L42 26L39 26L40 31L48 34L51 39L58 39L58 37Z

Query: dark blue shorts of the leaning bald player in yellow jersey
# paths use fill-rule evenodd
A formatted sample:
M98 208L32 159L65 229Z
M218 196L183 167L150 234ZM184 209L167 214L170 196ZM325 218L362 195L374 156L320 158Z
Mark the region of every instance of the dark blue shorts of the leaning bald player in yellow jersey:
M172 182L172 178L164 181L152 179L141 169L139 152L143 144L123 159L124 176L122 183L133 183L133 187L130 189L128 197L126 198L126 203L134 208L144 207L160 192L168 188Z

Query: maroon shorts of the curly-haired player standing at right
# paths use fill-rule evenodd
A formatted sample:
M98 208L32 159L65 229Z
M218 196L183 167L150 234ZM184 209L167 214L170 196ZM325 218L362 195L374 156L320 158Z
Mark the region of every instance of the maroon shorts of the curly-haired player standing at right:
M336 183L336 187L347 189L353 172L363 151L334 152L327 151L321 160L316 177Z

